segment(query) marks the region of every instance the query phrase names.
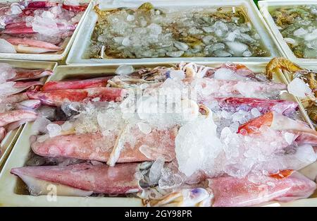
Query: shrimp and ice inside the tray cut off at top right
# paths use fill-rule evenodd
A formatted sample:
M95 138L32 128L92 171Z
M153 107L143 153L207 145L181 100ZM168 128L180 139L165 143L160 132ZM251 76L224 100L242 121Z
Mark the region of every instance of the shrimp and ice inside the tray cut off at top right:
M301 59L316 59L316 5L274 6L269 11L294 55Z

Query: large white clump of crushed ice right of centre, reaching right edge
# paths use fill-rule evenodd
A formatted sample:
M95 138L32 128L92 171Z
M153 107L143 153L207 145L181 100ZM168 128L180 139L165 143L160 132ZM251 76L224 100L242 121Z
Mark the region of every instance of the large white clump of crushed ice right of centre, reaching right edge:
M260 131L261 136L242 136L225 127L218 136L211 118L189 122L180 128L175 141L178 168L187 177L199 172L208 177L245 177L250 172L302 169L316 161L311 145L293 145L293 133L273 131L267 126Z

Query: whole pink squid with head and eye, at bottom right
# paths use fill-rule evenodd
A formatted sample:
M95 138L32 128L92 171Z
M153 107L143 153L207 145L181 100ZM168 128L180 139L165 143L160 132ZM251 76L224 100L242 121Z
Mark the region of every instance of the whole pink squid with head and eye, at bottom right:
M250 174L245 178L215 177L204 181L204 188L182 189L159 199L146 201L149 206L250 206L268 201L288 202L308 198L316 183L293 170L267 177Z

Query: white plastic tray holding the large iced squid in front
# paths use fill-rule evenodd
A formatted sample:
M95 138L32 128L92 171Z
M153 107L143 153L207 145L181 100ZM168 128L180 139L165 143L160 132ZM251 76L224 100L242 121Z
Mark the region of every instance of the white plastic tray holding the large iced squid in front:
M223 62L210 62L208 66L220 66ZM242 62L253 71L263 71L266 62ZM157 66L157 65L151 65ZM118 66L58 66L55 75L49 80L62 80L65 78L85 76L111 75ZM136 66L137 67L137 66ZM286 82L284 76L275 78L277 81ZM72 197L57 196L52 200L47 196L30 196L25 191L25 184L18 177L10 174L13 167L23 167L30 153L29 138L32 135L32 123L25 124L23 131L15 143L11 155L8 157L4 169L0 174L0 206L142 206L139 198L120 197ZM302 174L310 179L316 179L317 162L301 170ZM268 202L263 206L317 206L317 191L311 198L293 201L290 203Z

